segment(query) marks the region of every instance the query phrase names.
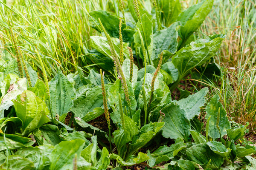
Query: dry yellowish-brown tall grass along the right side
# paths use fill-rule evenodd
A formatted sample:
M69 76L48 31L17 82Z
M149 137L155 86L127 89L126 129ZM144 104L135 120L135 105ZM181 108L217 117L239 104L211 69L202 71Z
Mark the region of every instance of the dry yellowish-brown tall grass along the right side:
M191 6L200 0L187 0ZM230 118L243 125L249 122L256 133L256 2L215 0L212 11L198 35L227 34L215 62L221 65L219 84L212 92L220 97Z

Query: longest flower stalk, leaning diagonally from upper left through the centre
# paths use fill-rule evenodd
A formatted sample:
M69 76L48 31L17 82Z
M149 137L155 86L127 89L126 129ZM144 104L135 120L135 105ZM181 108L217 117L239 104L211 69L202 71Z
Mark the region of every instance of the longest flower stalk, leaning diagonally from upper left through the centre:
M131 116L131 100L130 100L130 97L129 97L128 86L127 86L125 76L124 76L123 71L122 71L121 64L119 62L118 57L116 56L116 51L114 49L113 42L111 41L111 38L110 38L109 34L107 33L107 31L105 30L104 26L102 25L102 22L100 21L100 19L99 19L99 23L100 23L100 26L102 27L102 30L104 31L107 39L108 39L108 44L110 46L111 56L113 58L113 62L114 62L114 65L116 67L117 73L120 76L119 79L121 80L121 83L122 83L122 88L123 88L124 93L125 93L125 100L126 100L128 106L129 106L130 116Z

